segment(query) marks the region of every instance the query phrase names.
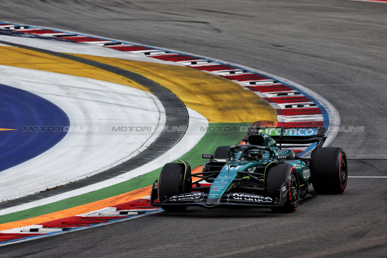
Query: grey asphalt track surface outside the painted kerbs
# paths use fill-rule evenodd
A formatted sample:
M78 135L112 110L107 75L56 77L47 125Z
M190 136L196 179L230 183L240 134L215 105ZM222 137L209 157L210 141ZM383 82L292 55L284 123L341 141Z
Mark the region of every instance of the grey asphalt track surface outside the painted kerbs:
M0 1L0 20L219 58L339 111L349 176L387 176L387 4L346 0ZM349 132L349 126L364 126ZM386 257L387 179L349 178L293 214L188 208L0 248L0 257Z

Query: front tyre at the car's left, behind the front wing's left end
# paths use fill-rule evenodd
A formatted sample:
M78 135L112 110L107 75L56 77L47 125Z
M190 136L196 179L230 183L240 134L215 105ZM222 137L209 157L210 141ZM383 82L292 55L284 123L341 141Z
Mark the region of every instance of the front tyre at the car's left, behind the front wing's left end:
M158 182L159 201L163 202L168 198L184 194L186 192L184 180L185 166L182 163L167 163L163 166ZM173 205L162 207L169 212L182 212L187 209L186 205Z

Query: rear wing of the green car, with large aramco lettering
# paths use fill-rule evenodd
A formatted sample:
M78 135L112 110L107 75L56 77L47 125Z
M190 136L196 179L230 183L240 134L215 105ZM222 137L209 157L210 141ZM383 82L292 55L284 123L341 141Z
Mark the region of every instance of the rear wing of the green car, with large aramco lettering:
M317 143L317 147L321 147L325 139L325 127L248 127L248 133L257 134L263 132L273 138L276 143L280 144L310 144ZM248 138L243 141L248 142Z

